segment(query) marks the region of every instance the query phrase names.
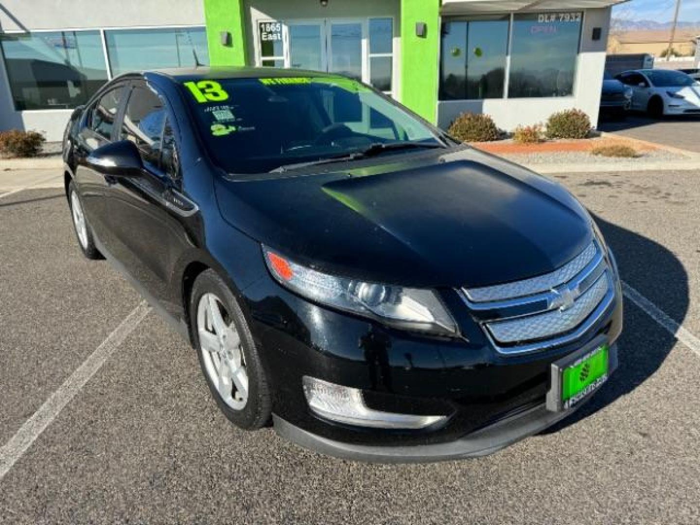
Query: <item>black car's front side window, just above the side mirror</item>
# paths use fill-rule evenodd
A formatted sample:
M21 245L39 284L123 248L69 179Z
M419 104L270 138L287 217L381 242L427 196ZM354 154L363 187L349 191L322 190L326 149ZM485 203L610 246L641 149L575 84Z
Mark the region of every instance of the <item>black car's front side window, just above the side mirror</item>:
M136 85L129 95L120 136L138 146L144 162L158 167L164 123L160 97L145 84Z

